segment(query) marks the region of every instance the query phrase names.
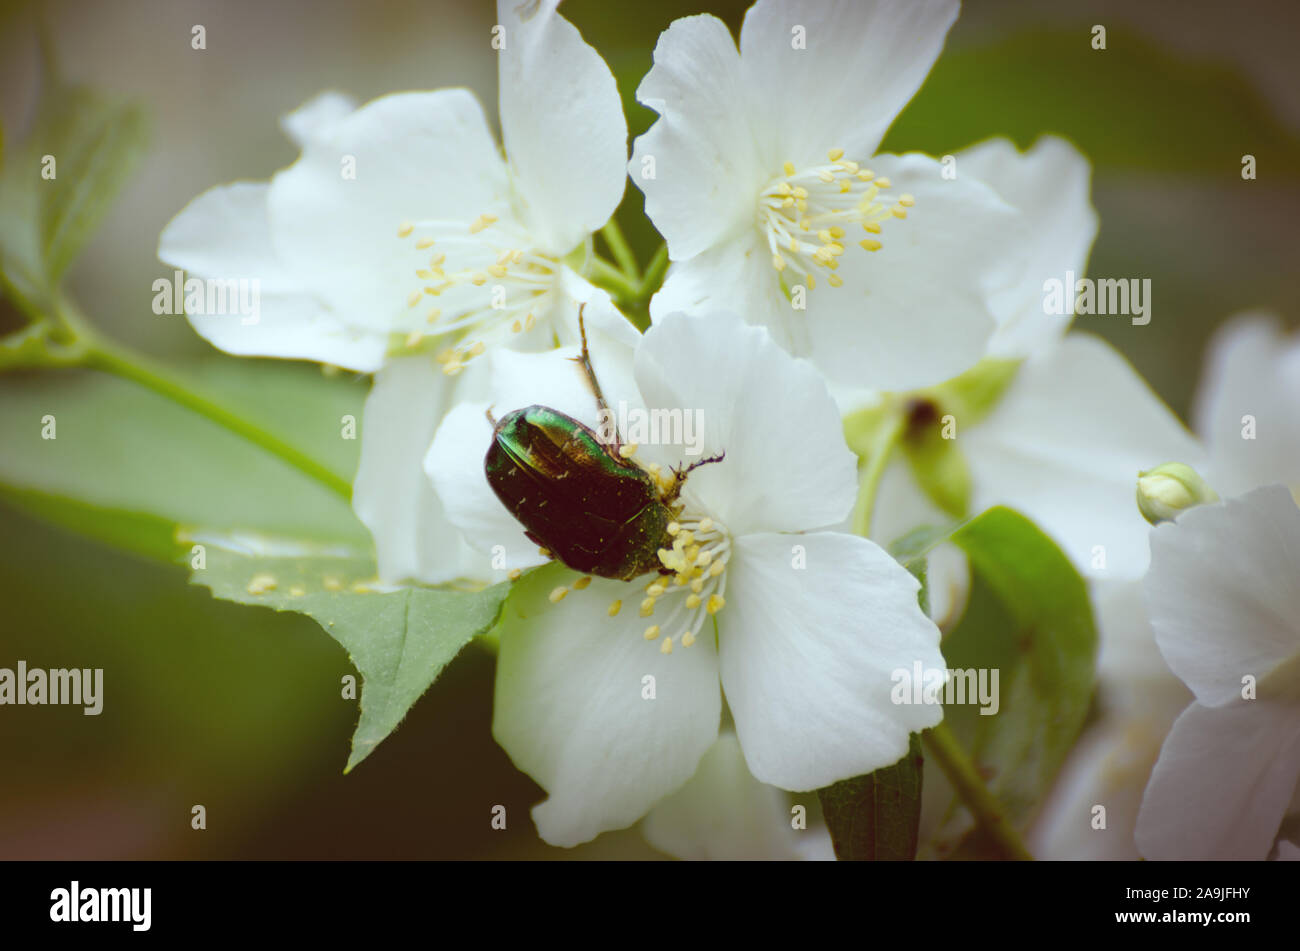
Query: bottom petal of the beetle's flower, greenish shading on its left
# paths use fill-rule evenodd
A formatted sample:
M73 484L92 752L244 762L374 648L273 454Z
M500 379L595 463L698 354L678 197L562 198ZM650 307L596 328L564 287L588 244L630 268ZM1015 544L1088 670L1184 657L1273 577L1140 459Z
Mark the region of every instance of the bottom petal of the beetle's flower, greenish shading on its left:
M533 809L542 838L576 846L694 774L718 737L718 657L711 638L662 653L634 605L611 618L610 603L640 590L628 583L597 578L558 604L520 583L532 589L504 608L493 735L550 794Z

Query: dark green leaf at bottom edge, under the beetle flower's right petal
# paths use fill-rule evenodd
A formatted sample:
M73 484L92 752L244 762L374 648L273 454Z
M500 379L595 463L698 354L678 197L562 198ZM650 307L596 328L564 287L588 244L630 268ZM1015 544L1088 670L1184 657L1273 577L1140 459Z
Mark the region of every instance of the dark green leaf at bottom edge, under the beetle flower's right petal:
M920 831L920 737L892 767L818 790L822 815L841 861L909 861Z

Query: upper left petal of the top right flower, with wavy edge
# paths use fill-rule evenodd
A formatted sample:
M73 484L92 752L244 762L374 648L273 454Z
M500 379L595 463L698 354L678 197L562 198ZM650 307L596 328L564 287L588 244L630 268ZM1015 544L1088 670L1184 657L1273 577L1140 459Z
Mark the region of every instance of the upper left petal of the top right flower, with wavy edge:
M675 261L754 226L758 192L775 170L754 153L749 95L720 19L682 17L659 35L637 87L637 101L659 118L637 139L628 171Z

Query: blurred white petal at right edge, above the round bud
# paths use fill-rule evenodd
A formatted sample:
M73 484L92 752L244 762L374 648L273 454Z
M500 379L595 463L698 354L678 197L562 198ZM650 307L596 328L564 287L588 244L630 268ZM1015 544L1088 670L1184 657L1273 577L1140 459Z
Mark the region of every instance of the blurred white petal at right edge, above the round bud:
M1300 492L1300 336L1270 314L1243 314L1208 352L1193 413L1210 452L1204 476L1222 496L1273 482Z

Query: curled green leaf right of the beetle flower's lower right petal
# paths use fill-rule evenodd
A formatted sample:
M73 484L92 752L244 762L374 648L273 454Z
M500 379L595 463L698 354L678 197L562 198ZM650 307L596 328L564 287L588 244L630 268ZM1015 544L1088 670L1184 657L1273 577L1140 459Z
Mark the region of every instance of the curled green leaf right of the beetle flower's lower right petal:
M1097 631L1088 590L1070 560L1030 520L992 508L952 533L966 552L971 591L944 639L954 670L998 672L993 715L948 704L944 721L1019 828L1032 818L1079 735L1095 685ZM982 855L956 799L935 847Z

